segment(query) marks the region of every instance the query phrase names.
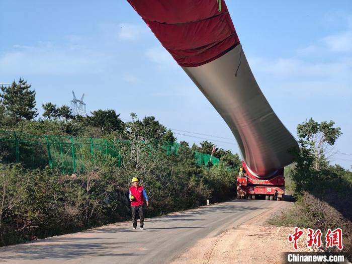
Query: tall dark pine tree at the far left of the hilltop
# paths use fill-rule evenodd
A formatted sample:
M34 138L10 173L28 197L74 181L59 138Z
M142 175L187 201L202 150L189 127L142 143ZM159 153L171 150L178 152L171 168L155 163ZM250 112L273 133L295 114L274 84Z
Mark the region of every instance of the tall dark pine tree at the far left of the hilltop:
M0 87L2 91L0 98L2 98L5 112L14 122L21 119L31 120L38 116L35 108L35 91L30 90L31 86L26 80L20 78L18 83L14 80L10 86Z

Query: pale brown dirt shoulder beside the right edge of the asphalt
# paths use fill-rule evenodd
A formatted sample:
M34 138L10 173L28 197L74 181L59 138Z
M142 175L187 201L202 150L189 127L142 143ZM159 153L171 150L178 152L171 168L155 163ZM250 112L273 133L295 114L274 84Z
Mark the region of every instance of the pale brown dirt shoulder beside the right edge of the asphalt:
M293 228L269 225L267 220L273 214L287 210L292 203L273 202L278 206L242 225L229 227L216 237L200 240L172 263L281 263L281 253L292 251L287 237ZM303 246L304 241L300 242Z

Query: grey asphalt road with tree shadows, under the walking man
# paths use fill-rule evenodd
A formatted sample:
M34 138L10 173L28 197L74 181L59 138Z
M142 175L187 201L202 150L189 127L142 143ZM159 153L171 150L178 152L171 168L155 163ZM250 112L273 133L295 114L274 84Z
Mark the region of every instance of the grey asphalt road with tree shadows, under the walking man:
M233 200L162 217L1 247L0 263L167 263L195 244L240 225L280 201Z

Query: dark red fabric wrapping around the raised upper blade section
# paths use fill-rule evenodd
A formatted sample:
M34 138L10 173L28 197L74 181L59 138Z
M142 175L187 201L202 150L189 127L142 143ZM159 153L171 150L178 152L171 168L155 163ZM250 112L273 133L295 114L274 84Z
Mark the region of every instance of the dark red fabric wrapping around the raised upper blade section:
M238 40L223 0L127 0L180 66L221 57Z

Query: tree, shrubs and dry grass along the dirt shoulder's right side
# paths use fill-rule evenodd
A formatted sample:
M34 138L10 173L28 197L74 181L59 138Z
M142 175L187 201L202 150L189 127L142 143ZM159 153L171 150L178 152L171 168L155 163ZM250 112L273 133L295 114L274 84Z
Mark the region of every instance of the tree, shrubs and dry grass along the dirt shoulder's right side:
M294 150L295 163L286 170L292 180L289 188L297 202L292 210L271 223L320 229L342 229L345 257L352 257L352 172L338 164L330 165L333 145L342 134L334 122L318 123L310 119L297 126L300 149ZM324 247L324 246L323 246ZM336 247L326 251L339 251Z

